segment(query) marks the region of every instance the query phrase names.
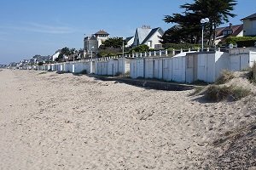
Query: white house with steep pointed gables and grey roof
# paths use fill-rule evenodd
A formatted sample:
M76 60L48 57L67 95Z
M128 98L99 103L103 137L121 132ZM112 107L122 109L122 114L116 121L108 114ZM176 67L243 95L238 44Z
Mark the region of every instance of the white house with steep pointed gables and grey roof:
M149 48L161 48L160 37L163 35L164 31L160 27L154 29L151 29L150 26L137 28L132 46L146 44Z

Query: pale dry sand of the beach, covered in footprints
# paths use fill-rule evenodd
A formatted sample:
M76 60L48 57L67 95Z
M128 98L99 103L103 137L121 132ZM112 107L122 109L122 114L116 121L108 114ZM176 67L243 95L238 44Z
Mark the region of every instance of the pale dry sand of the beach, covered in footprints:
M255 96L192 92L0 71L0 169L255 168Z

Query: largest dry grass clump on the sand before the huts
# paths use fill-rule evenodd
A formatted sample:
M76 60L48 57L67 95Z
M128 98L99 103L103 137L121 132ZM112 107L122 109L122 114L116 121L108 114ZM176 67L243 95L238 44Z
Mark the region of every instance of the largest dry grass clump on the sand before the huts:
M221 101L224 99L230 99L231 101L238 100L246 97L251 93L247 88L236 86L217 86L210 85L205 92L207 99L212 101Z

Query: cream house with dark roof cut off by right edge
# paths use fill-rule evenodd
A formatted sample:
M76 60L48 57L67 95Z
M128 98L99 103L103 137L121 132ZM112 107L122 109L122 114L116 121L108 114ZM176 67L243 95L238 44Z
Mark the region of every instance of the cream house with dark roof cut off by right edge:
M241 21L243 22L243 35L256 36L256 13L241 19Z

